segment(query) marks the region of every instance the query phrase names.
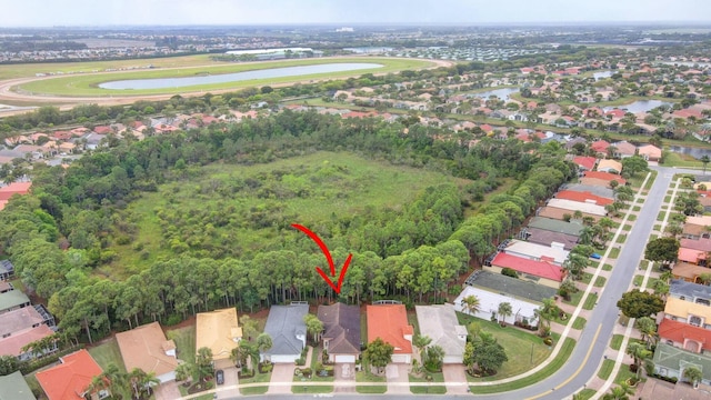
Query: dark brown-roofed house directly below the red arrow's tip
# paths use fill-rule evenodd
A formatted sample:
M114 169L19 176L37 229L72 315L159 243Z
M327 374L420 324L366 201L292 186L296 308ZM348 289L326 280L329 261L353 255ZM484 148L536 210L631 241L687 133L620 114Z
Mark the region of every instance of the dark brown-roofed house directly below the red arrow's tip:
M323 349L331 362L354 363L360 356L360 308L336 303L319 306L319 320L323 323Z

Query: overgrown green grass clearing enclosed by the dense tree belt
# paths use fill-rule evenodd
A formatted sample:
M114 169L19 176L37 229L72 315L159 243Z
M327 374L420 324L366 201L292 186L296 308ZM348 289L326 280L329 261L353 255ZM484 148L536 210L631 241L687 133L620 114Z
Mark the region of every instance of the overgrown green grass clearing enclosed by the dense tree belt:
M310 194L293 197L287 201L243 196L242 191L230 192L229 196L220 196L218 192L222 189L210 193L203 191L206 184L221 188L238 180L247 181L277 174L281 174L281 180L279 183L274 180L273 184L280 188L301 188L298 190L307 190ZM264 178L261 181L272 179ZM236 216L233 218L248 218L256 209L264 208L266 213L280 212L288 216L290 221L314 226L324 219L362 214L370 209L397 211L403 204L413 201L425 188L443 182L463 184L468 181L438 172L333 152L317 152L249 167L222 163L207 166L196 178L161 186L157 192L144 193L140 200L130 204L131 218L139 227L139 232L132 244L112 247L118 258L110 268L104 268L101 272L121 278L126 273L138 272L161 258L172 256L170 246L163 240L163 228L159 217L161 212L188 216L206 210L226 212L227 208L232 208L229 212ZM272 186L282 190L278 187ZM204 226L200 221L196 224ZM281 240L274 236L271 227L259 230L243 227L232 230L228 226L216 228L214 233L216 238L227 233L234 234L240 248L247 251L258 250Z

